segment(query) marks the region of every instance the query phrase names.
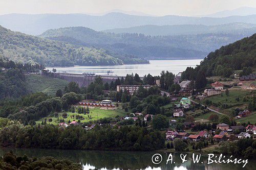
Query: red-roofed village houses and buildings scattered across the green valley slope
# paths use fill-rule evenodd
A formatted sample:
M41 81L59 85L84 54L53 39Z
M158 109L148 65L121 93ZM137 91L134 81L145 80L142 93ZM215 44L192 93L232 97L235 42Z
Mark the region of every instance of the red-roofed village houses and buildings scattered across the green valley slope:
M161 91L161 95L166 96L169 99L169 104L164 107L171 108L173 111L172 115L168 117L168 127L165 130L161 129L161 132L165 135L167 149L172 148L171 145L173 145L172 142L175 139L182 139L187 143L193 142L193 148L197 148L195 147L196 144L194 142L198 143L202 141L205 143L202 147L204 148L208 146L208 143L214 145L221 141L256 138L256 122L252 121L250 124L250 121L252 120L250 118L246 119L246 121L243 123L239 122L239 119L255 115L255 112L248 110L248 106L244 107L243 110L240 109L237 114L233 115L233 121L226 121L226 117L224 117L224 121L220 122L221 117L223 115L227 115L221 113L219 109L216 109L217 107L213 107L212 105L210 106L210 102L207 102L208 99L216 98L217 96L219 96L219 98L221 98L223 95L228 97L228 93L237 92L238 90L254 90L254 80L255 74L250 76L250 80L244 80L243 77L240 78L239 83L236 85L236 87L239 89L230 86L224 86L219 81L216 81L210 84L210 88L209 86L205 88L202 93L196 93L193 95L191 81L181 81L181 73L175 76L174 82L179 84L180 90L176 94ZM156 86L160 87L159 80L156 80L155 83ZM244 86L244 84L247 86ZM130 95L133 95L133 93L136 93L136 91L138 91L141 87L148 90L152 87L152 85L117 85L116 91L126 91ZM242 93L242 95L243 94L244 93ZM235 97L237 101L238 96ZM232 96L232 98L234 97ZM101 114L102 111L121 110L121 105L122 103L113 102L112 100L102 100L100 102L93 100L83 100L74 105L74 109L76 110L74 110L74 114L84 113L87 115L87 111L90 112L89 110L98 109L98 116L98 114ZM225 109L223 109L223 111L225 111ZM108 113L105 115L106 117L108 117L107 114ZM84 129L91 130L96 126L101 126L106 123L99 123L99 118L96 116L94 118L91 117L90 119L90 116L92 115L89 116L89 114L88 118L85 116L86 118L81 119L79 118L80 114L77 115L78 116L73 115L73 117L71 116L69 118L76 118L78 120L73 119L72 121L69 120L69 122L64 121L60 122L58 125L65 128L68 126L82 125ZM112 127L139 124L147 127L148 129L151 129L152 120L155 116L156 115L154 114L145 114L143 112L131 113L130 111L127 111L116 115L115 118L110 118L109 124ZM171 144L169 142L171 142Z

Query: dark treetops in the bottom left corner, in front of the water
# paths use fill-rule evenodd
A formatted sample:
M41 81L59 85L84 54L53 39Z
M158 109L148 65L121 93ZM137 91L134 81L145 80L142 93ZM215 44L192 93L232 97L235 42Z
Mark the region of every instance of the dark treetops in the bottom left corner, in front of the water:
M53 157L30 158L26 155L16 156L12 152L5 153L0 159L0 169L74 169L82 170L80 163L74 163L70 160L58 160Z

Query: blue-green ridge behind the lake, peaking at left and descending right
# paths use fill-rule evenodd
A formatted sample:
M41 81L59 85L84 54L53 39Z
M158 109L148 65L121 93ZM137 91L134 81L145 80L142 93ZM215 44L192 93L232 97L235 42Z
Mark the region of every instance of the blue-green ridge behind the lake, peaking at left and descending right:
M180 47L176 40L143 34L112 34L84 27L69 27L48 30L40 36L72 44L97 46L118 54L146 59L195 59L206 56L206 52L188 49L187 44Z

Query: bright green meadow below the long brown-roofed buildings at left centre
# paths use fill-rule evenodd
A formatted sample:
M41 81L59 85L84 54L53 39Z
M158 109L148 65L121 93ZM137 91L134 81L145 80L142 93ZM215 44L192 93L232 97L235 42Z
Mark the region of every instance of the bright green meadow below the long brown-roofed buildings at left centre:
M62 113L63 112L58 113L59 119L62 119ZM121 110L121 109L105 110L105 109L100 109L99 107L90 108L89 114L78 114L76 112L75 113L66 112L66 113L68 114L68 116L67 116L67 118L64 118L65 123L68 123L69 120L70 121L72 121L72 120L78 121L78 119L71 117L72 115L75 116L76 114L84 117L84 120L80 120L81 123L89 122L90 120L97 120L97 119L104 118L104 117L116 117L117 115L120 117L123 117L127 114L127 112L125 112L124 110ZM88 115L91 116L91 119L88 118ZM40 124L42 122L42 120L45 121L45 118L47 118L48 124L54 124L54 125L58 124L57 117L51 117L51 116L41 118L38 121L36 121L36 123ZM52 118L52 122L48 122L49 118Z

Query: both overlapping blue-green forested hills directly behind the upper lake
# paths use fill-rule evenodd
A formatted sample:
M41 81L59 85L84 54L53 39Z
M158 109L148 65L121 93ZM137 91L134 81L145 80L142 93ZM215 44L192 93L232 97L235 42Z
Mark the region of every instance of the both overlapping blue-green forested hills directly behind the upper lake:
M251 35L199 34L177 36L146 36L137 33L105 33L84 27L69 27L48 30L41 37L79 45L93 45L113 53L135 55L146 59L204 58L222 45Z

